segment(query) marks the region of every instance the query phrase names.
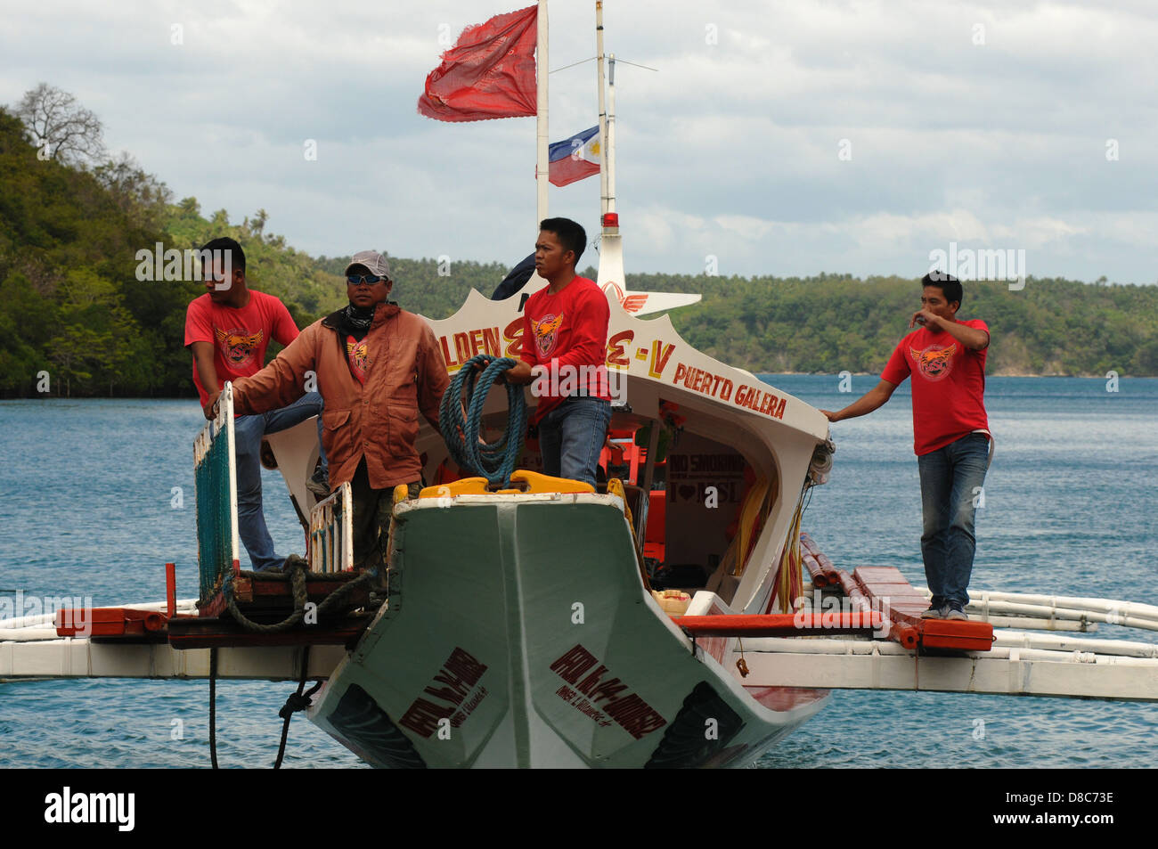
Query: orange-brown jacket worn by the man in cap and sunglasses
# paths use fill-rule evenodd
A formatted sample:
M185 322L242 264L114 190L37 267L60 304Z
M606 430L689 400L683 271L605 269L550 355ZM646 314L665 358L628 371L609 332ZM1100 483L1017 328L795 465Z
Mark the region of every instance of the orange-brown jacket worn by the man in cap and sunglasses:
M237 380L234 411L242 416L292 404L306 394L306 372L313 371L325 402L322 442L330 486L352 480L362 458L374 489L417 481L418 413L438 431L439 404L450 382L434 331L396 303L379 305L366 335L362 386L350 372L338 315L314 322L265 368Z

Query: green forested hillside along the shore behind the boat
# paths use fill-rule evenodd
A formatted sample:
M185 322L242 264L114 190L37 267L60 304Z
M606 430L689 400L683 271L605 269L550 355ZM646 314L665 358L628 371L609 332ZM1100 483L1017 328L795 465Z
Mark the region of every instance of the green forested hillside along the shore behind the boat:
M0 397L192 396L185 308L204 290L140 279L138 254L196 248L229 235L245 249L252 288L281 298L299 327L345 303L349 254L310 257L266 232L258 208L241 224L207 218L127 155L44 158L27 126L0 108ZM255 198L255 206L261 203ZM335 246L354 252L391 246ZM528 246L528 250L529 250ZM629 252L630 257L630 252ZM490 295L501 262L390 257L393 298L441 319L474 287ZM585 264L596 262L588 251ZM585 270L594 276L594 269ZM911 279L628 275L642 291L702 292L672 321L691 344L757 372L878 372L919 299ZM1158 287L1029 278L966 283L960 317L992 332L992 374L1158 375ZM272 346L270 356L276 353ZM46 378L46 380L45 380ZM46 389L46 390L45 390Z

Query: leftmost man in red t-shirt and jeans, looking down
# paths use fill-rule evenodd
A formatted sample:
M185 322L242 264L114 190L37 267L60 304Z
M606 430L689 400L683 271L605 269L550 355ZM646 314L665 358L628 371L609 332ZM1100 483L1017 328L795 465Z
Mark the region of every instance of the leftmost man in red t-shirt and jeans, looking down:
M185 347L193 354L193 383L205 417L213 418L210 398L217 397L221 385L261 371L270 339L288 345L298 338L298 325L280 300L247 287L245 252L235 240L214 239L200 249L200 257L206 292L185 313ZM262 437L321 412L322 396L315 391L279 410L234 418L237 534L254 571L276 569L284 561L274 551L262 512ZM320 475L324 468L323 454Z

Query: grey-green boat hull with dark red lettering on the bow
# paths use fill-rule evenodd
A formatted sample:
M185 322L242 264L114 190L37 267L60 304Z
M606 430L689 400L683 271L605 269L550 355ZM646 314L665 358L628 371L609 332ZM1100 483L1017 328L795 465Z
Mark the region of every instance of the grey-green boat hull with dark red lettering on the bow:
M389 603L310 710L374 766L748 766L827 696L694 645L614 496L419 499L391 544Z

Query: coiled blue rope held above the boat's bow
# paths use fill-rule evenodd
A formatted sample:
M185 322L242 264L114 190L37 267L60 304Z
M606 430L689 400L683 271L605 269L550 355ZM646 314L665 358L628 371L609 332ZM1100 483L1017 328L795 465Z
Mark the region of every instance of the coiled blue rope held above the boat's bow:
M486 364L486 367L479 373L475 371L476 363ZM493 442L478 441L486 395L499 375L514 365L510 357L485 353L471 357L454 375L439 407L439 427L450 456L463 469L485 477L492 486L501 488L511 483L511 473L522 455L522 442L527 436L527 402L522 397L522 387L507 383L510 411L506 430ZM463 408L467 410L466 418Z

